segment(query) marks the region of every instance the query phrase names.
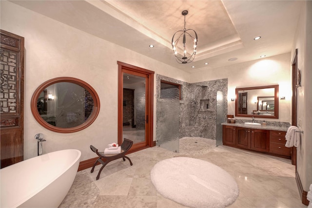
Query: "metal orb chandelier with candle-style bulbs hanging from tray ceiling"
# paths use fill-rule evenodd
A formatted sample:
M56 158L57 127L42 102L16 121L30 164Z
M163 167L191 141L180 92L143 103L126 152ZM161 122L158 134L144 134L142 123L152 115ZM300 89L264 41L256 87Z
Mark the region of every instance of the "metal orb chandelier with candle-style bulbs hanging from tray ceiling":
M198 41L197 33L193 29L185 29L185 16L188 13L189 12L187 10L184 10L182 12L182 15L184 16L184 29L177 31L172 37L171 41L172 49L174 50L174 54L176 57L176 62L178 63L190 63L194 60L196 55ZM193 36L191 35L191 33L194 33ZM180 51L178 52L177 50Z

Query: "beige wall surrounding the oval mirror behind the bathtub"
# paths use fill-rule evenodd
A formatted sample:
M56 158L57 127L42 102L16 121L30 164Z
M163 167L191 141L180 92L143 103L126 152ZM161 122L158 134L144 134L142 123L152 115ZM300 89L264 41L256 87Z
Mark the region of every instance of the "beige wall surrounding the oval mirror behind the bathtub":
M189 82L189 74L186 72L12 2L1 0L0 3L1 29L25 38L25 159L37 156L37 141L34 136L39 132L47 140L43 143L43 153L78 149L82 152L81 160L96 156L90 150L90 144L103 148L109 143L117 142L117 61ZM59 76L82 79L97 91L100 98L98 118L80 132L51 132L41 127L31 113L30 99L36 88L44 81Z

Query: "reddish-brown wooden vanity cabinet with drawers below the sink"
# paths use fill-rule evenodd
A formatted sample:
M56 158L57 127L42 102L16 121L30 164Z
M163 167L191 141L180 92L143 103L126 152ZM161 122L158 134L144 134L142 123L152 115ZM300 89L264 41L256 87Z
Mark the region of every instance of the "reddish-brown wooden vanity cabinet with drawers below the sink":
M285 147L287 129L280 127L251 128L244 124L223 123L223 145L291 158L291 148Z

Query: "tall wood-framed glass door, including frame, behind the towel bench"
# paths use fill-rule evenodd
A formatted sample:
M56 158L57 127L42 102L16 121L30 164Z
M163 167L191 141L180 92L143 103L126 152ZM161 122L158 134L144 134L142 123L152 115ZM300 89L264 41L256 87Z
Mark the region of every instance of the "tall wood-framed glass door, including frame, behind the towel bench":
M130 152L153 147L154 72L118 63L118 144L134 142Z

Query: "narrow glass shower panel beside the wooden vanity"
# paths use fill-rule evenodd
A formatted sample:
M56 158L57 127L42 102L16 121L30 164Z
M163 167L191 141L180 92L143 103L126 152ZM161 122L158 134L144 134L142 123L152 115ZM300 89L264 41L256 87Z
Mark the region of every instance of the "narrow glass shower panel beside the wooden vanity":
M216 93L216 147L222 145L222 125L225 122L225 102L221 91Z

